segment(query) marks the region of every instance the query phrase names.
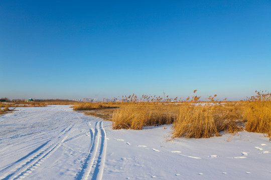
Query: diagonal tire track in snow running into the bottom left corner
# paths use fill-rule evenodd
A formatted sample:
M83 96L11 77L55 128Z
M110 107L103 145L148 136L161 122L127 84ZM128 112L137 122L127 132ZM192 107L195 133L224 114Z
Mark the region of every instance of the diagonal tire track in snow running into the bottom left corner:
M74 124L73 124L74 125ZM6 177L2 178L2 180L7 180L7 179L10 179L12 178L13 176L13 179L18 179L18 178L24 178L26 175L28 175L29 173L31 173L33 170L35 170L40 164L43 163L44 160L46 160L50 155L52 155L60 146L61 144L64 142L64 140L67 138L67 133L71 130L71 128L73 127L73 125L70 125L67 128L64 128L58 135L57 138L55 139L59 139L61 137L64 137L62 138L62 140L60 140L58 143L55 142L53 144L50 144L47 148L43 149L40 151L40 149L36 150L38 151L36 153L36 155L30 159L28 159L28 161L24 162L21 167L17 168L16 170L14 170L14 172L8 174ZM66 130L67 129L67 130ZM64 131L64 132L63 132ZM53 140L53 139L52 139ZM49 140L51 141L51 140ZM48 143L49 141L47 141L46 143ZM38 147L40 148L40 147ZM34 150L34 153L36 152ZM32 151L33 152L33 151ZM17 160L16 162L19 162L25 158L27 158L28 156L30 155L33 155L33 153L29 153L27 156L25 157L22 157L21 159ZM42 157L40 157L42 156ZM40 158L39 158L40 157ZM15 162L15 163L16 163ZM10 165L12 166L12 165ZM10 167L9 166L9 167Z

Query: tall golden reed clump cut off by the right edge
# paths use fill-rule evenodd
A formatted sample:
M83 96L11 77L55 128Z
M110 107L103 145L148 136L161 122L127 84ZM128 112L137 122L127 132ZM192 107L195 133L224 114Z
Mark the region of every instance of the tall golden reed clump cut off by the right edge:
M271 93L255 91L244 105L244 118L247 120L245 130L266 133L271 136Z

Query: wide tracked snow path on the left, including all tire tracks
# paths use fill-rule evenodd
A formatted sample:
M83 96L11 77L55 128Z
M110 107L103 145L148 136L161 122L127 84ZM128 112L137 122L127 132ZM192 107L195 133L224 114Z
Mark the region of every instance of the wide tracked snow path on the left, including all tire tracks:
M0 116L0 179L102 179L103 122L69 106L21 107Z

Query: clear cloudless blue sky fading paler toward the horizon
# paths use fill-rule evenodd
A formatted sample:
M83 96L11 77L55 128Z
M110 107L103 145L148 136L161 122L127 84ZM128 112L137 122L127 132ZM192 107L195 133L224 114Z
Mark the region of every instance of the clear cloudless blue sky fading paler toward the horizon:
M1 0L0 97L271 91L270 0Z

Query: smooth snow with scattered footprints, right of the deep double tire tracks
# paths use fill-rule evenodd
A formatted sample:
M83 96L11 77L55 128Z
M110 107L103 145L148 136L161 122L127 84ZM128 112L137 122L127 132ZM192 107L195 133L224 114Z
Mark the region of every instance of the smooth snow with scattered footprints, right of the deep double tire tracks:
M112 130L105 124L104 179L271 179L271 153L264 153L271 143L261 133L170 140L171 125Z

